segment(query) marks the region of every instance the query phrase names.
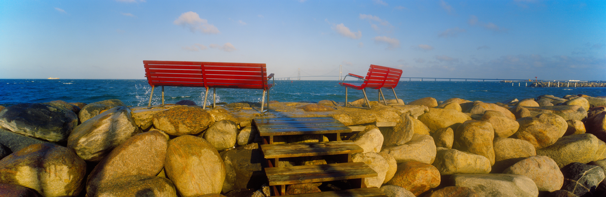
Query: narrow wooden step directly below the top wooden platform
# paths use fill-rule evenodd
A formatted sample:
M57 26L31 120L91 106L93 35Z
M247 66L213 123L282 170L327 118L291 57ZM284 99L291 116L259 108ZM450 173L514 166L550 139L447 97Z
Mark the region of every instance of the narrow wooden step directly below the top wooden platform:
M364 152L353 141L325 141L319 143L262 144L265 158L305 157L318 155L338 155Z

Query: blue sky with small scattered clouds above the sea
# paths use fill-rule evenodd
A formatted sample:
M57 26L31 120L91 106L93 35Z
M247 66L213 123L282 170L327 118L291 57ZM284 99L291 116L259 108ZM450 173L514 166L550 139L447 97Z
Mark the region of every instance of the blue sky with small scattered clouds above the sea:
M144 79L142 60L606 80L606 1L0 1L0 79Z

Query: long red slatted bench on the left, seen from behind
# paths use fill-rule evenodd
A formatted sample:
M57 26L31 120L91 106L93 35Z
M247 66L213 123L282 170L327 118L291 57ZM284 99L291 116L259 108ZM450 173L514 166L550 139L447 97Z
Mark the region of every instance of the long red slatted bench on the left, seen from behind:
M265 92L269 101L269 89L273 84L267 80L265 63L227 63L227 62L178 62L144 60L145 77L151 85L150 102L155 86L162 86L162 106L164 106L164 86L204 87L204 109L208 88L213 88L213 108L215 107L215 88L263 89L261 112L265 102ZM269 108L269 105L267 105Z

